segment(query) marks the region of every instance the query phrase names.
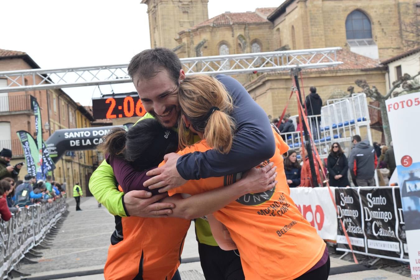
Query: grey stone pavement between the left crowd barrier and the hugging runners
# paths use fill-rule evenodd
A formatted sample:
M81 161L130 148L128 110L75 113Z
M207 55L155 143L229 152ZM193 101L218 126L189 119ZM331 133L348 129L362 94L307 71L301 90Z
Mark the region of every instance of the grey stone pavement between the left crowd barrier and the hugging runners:
M93 197L81 198L83 211L76 211L74 198L68 198L67 202L70 213L51 242L53 245L50 249L35 249L42 252L42 258L32 259L37 264L22 264L19 271L35 277L103 268L114 217L105 207L98 208Z

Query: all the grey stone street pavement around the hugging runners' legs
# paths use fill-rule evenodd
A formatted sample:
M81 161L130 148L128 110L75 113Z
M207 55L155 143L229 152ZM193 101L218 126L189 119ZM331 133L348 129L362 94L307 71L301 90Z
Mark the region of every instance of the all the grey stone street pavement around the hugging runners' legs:
M32 259L37 264L21 264L18 270L31 273L28 277L52 279L53 275L81 271L101 270L106 261L110 236L114 230L114 218L105 207L98 208L93 197L81 199L81 209L75 211L73 198L67 200L70 214L60 228L60 233L52 241L50 249L36 249L42 252L42 258ZM334 254L333 254L334 255ZM336 255L334 255L336 256ZM185 239L182 259L198 257L197 241L194 233L194 222ZM353 264L352 262L331 257L331 267ZM183 263L179 267L182 280L205 280L199 262ZM55 278L55 277L54 277ZM65 280L99 280L103 274L61 278ZM361 272L331 275L328 279L360 280L399 280L409 279L386 270L366 270Z

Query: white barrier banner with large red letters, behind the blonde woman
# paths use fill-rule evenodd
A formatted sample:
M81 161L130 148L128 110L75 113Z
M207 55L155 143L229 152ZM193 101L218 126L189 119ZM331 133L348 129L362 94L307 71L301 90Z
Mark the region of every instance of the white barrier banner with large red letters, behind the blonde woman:
M331 188L331 191L335 197L335 188ZM337 212L328 188L290 188L290 196L322 239L336 240Z

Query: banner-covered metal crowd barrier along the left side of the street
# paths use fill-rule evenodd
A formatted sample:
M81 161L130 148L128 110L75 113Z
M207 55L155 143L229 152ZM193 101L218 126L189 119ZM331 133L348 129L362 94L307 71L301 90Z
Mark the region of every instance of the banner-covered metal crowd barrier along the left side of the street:
M8 222L0 222L0 279L6 279L25 254L44 240L64 211L66 199L60 198L24 207Z

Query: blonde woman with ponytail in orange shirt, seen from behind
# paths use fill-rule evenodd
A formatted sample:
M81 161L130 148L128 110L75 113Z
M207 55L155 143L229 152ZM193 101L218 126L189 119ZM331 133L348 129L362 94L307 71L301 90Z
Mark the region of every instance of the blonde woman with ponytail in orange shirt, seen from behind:
M183 150L178 154L209 149L226 154L232 149L236 130L230 117L232 100L217 79L206 75L187 76L180 84L179 104L179 142ZM189 146L194 133L202 140ZM281 156L289 147L274 129L273 134L276 152L262 165L270 163L277 167L278 185L261 193L242 195L215 211L213 216L226 226L236 243L246 279L327 279L328 249L289 196ZM194 197L236 182L240 177L239 173L188 181L168 193Z

